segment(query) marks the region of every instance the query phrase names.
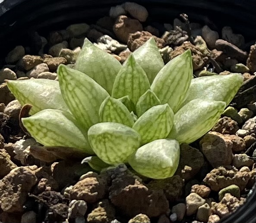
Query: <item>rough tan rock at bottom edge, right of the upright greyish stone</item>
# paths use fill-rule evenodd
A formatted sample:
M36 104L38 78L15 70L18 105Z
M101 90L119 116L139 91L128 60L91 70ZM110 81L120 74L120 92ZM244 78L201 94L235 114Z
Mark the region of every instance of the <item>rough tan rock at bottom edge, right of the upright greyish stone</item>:
M96 208L87 216L88 223L109 223L115 219L115 209L107 200L98 202Z

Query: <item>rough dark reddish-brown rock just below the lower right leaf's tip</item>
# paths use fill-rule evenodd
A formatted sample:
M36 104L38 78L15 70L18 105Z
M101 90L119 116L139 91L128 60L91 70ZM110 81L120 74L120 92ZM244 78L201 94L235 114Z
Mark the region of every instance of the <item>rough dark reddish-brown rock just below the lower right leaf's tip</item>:
M236 121L224 116L223 118L218 119L218 122L212 128L212 131L221 134L236 135L238 129L239 127Z

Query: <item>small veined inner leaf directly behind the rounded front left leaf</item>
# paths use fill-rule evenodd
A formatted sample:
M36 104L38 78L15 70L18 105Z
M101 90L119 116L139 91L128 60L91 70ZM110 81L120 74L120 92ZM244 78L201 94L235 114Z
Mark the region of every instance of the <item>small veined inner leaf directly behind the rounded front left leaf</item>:
M100 122L117 122L133 127L133 117L125 105L113 97L107 97L101 104L99 111Z

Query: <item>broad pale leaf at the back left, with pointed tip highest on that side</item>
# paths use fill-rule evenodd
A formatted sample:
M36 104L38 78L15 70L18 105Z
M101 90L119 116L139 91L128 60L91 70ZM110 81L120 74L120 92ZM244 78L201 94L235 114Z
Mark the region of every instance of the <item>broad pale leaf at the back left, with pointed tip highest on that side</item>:
M122 65L117 59L85 38L82 50L76 60L76 70L87 74L111 94L115 78L121 67Z

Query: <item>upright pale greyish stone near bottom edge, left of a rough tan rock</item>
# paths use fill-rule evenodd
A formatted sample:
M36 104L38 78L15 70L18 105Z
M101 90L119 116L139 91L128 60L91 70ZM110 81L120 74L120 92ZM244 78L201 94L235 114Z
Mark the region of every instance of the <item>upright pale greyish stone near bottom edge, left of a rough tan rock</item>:
M87 211L87 204L82 200L72 200L68 208L68 220L75 219L77 216L84 216Z

